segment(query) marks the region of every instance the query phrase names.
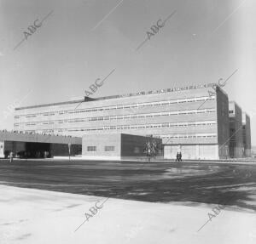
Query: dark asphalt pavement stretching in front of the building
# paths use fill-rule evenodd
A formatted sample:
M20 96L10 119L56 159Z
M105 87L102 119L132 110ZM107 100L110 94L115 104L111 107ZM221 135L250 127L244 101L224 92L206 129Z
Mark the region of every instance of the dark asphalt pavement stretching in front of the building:
M256 211L256 165L200 162L0 161L0 184L151 202Z

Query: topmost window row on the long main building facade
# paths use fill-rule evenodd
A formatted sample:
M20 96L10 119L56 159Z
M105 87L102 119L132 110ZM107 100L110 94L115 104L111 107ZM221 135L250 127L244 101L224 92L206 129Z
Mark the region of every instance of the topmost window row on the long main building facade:
M196 97L196 98L187 98L187 99L169 99L157 102L146 102L146 103L137 103L137 104L127 104L127 105L112 105L112 106L103 106L103 107L96 107L90 109L78 109L78 110L67 110L67 111L51 111L51 112L41 112L36 114L27 114L27 115L20 115L20 116L54 116L56 114L63 115L63 114L76 114L76 113L84 113L84 112L92 112L92 111L109 111L109 110L119 110L119 109L135 109L145 106L159 106L159 105L172 105L172 104L180 104L180 103L189 103L189 102L198 102L204 100L211 100L215 99L215 96L203 96L203 97ZM20 116L15 116L15 118L20 118Z

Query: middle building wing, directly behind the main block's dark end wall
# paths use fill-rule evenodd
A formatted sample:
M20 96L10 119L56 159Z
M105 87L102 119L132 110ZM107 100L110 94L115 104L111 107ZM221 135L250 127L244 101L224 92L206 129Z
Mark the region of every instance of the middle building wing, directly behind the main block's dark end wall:
M243 156L241 107L234 101L229 103L230 115L230 157Z

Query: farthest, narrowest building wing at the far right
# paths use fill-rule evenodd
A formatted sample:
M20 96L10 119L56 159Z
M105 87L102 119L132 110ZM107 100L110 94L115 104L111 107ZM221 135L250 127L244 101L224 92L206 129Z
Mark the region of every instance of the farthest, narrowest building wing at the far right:
M247 113L242 113L242 139L243 139L243 147L244 147L244 156L251 156L251 122L250 117Z

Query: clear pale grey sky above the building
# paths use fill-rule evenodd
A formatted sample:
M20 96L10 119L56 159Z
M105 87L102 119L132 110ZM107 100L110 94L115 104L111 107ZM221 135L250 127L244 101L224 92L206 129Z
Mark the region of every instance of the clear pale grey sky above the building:
M0 0L0 128L13 128L10 106L83 97L113 69L92 97L218 82L238 69L224 90L251 115L256 145L255 10L255 0Z

